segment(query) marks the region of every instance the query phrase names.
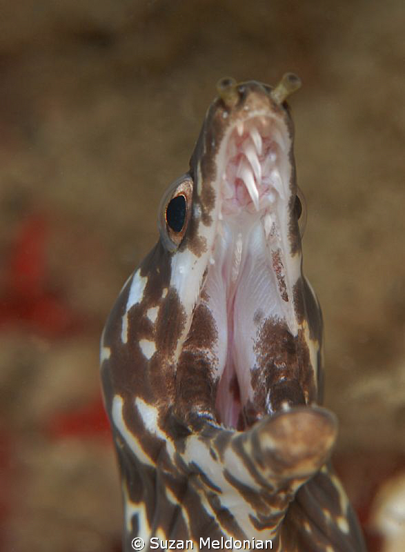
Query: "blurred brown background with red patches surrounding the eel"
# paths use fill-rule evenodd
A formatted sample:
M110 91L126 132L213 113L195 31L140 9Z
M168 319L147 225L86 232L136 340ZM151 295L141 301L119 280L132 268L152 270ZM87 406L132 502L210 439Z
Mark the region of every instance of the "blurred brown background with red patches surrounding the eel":
M335 464L381 549L373 500L405 471L404 28L402 0L0 1L1 550L119 551L103 322L217 80L287 70Z

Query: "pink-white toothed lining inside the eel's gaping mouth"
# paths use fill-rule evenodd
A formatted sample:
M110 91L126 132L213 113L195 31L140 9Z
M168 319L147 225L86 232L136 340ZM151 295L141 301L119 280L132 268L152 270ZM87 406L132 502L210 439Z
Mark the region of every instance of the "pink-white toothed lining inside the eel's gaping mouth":
M204 290L219 330L217 420L238 429L252 398L257 315L283 316L269 242L279 248L277 211L288 203L280 168L284 150L281 132L268 117L236 126L226 150L218 237Z

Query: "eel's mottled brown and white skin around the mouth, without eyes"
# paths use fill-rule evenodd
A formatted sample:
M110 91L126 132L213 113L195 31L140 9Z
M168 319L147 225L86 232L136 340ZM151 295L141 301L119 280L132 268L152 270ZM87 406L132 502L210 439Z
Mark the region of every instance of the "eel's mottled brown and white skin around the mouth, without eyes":
M242 117L246 106L266 105L288 129L293 193L288 207L290 249L293 255L301 253L293 216L297 186L293 123L288 106L277 103L271 90L255 81L241 83L210 106L190 159L192 205L197 210L189 216L184 239L171 251L159 240L108 317L101 343L101 379L128 514L126 552L132 550L131 540L137 535L163 534L167 539L198 542L208 536L250 538L250 532L263 538L270 535L273 550L279 552L365 550L355 515L328 465L337 422L315 404L321 402L323 388L322 315L304 277L295 284L293 302L297 321L302 328L306 324L310 339L318 344L317 371L310 365L304 330L293 338L286 326L258 310L259 363L252 375L253 402L241 414L244 431L217 423L218 382L207 351L214 350L218 328L204 302L192 312L175 361L188 313L170 286L172 258L177 252L190 252L196 258L206 253L209 244L201 237L200 226L213 223L215 155L226 128ZM198 210L200 217L195 215ZM273 262L277 267L279 259ZM126 312L136 277L144 290ZM281 295L284 287L280 276ZM154 308L155 318L150 314ZM146 354L143 342L155 349ZM237 396L235 382L230 386ZM285 404L288 411L283 411ZM243 504L246 519L235 504Z

